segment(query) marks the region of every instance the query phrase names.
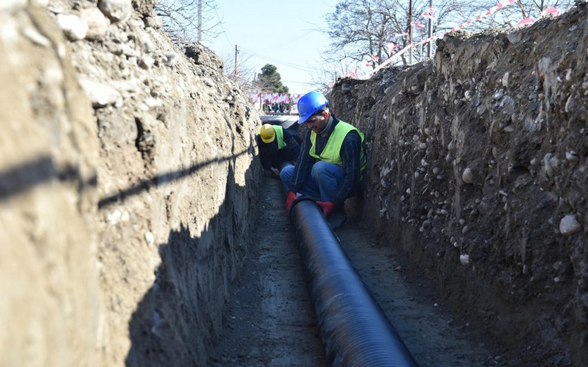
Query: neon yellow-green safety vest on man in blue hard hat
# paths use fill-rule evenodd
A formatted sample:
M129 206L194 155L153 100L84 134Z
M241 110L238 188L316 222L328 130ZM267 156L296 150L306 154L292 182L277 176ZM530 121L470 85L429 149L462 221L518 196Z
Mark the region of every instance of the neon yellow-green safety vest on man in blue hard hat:
M339 120L339 123L331 132L331 136L329 136L329 140L327 141L327 145L325 145L324 149L320 156L316 154L316 133L311 132L311 150L309 154L316 159L320 159L321 161L335 163L336 165L342 165L343 161L341 160L341 146L343 145L343 140L345 136L351 131L355 131L359 134L361 138L361 146L360 146L360 177L362 176L363 171L365 170L365 166L367 165L367 161L365 160L365 154L363 152L363 140L364 136L363 133L360 132L356 127L353 125L346 123L344 121Z

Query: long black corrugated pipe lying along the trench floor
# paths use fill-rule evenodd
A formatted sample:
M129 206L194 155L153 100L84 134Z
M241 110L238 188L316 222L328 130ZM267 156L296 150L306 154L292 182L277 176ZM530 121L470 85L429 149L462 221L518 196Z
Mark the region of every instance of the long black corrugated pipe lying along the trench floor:
M290 211L329 366L416 366L312 199Z

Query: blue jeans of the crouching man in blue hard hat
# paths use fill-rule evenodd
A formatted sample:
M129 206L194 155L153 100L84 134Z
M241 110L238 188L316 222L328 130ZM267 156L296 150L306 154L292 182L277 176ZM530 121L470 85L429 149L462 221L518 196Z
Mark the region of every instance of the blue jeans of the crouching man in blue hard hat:
M288 190L288 183L290 183L293 172L293 165L279 172L279 178L284 185L284 192ZM343 168L340 165L318 161L313 165L311 177L304 181L304 185L298 190L298 193L311 197L319 202L333 202L342 181Z

